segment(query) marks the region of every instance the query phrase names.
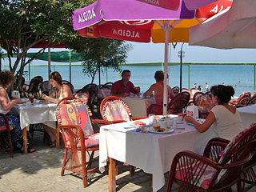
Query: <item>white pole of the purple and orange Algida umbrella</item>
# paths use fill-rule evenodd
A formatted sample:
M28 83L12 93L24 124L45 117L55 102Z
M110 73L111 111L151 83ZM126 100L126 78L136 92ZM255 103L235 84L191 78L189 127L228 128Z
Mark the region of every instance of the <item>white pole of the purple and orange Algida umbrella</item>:
M163 82L163 111L162 114L166 115L167 114L167 80L168 80L168 53L169 53L169 31L170 31L170 26L169 22L165 21L164 22L164 30L165 30L165 67L164 67L164 82Z

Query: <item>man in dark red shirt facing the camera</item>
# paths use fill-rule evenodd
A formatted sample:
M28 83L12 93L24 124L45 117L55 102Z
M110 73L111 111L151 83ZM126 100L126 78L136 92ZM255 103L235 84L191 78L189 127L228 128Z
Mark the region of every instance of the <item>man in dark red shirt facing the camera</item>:
M127 97L129 95L137 94L140 92L140 87L135 87L132 82L130 82L130 70L122 71L122 79L118 82L114 82L111 90L111 95L117 97Z

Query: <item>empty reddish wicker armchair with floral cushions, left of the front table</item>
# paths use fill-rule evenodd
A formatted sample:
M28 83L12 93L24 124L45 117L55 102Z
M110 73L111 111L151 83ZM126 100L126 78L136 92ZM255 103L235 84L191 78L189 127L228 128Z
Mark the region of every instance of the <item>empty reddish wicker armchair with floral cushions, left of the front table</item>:
M90 116L89 107L79 98L63 98L58 102L56 118L65 145L61 175L65 170L81 174L84 187L87 186L87 173L98 170L97 167L89 170L94 160L94 152L99 149L99 134L94 134L91 122L99 125L109 124L103 120L91 120ZM81 151L81 158L78 156L78 150ZM87 162L86 152L90 157Z

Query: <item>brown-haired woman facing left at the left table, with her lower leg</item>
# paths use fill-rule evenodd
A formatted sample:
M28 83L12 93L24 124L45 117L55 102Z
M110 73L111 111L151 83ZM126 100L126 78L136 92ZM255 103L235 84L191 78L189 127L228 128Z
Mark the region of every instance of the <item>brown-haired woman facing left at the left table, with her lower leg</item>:
M50 84L54 88L54 92L50 94L50 96L43 94L43 99L47 102L58 103L62 98L73 97L70 86L62 83L62 76L57 71L51 73L49 78ZM47 134L50 136L50 147L56 146L56 131L52 128L55 123L56 122L45 122L42 124Z

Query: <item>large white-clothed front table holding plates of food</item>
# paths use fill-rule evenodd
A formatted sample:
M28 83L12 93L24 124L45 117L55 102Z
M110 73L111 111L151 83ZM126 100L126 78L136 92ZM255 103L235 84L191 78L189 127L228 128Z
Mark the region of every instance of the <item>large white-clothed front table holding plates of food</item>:
M168 118L177 118L177 115L170 114ZM150 123L149 118L140 121ZM116 191L115 160L152 174L152 190L158 191L165 185L164 174L170 170L175 154L182 150L202 154L210 138L217 137L212 129L199 133L193 125L183 121L169 128L170 131L158 133L152 126L146 126L146 133L142 133L134 122L101 127L99 170L103 172L109 161L109 191Z

